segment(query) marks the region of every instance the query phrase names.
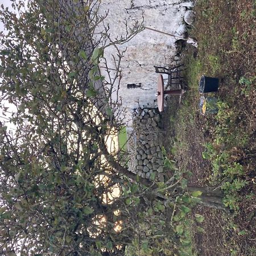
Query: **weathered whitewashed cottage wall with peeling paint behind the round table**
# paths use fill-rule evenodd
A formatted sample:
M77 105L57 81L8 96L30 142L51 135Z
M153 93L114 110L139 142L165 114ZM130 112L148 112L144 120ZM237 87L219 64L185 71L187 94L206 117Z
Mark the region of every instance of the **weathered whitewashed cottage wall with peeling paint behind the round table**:
M184 14L187 7L181 5L187 1L181 0L102 0L101 11L109 11L105 24L110 24L109 33L112 38L125 34L123 21L133 23L144 16L144 26L155 30L175 34L175 31L184 23ZM119 46L127 47L123 57L122 80L119 96L122 104L128 110L154 108L156 106L155 93L158 75L154 65L167 66L175 56L176 39L158 32L144 30L128 43ZM115 55L114 47L105 51L108 60ZM113 65L113 63L112 63ZM141 88L128 89L127 84L141 83Z

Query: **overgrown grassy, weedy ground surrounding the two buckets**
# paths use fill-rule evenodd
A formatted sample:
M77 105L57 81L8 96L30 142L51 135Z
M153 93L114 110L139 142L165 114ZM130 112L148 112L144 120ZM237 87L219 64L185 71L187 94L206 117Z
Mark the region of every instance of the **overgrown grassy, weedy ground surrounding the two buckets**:
M201 210L206 214L202 227L216 232L215 237L195 236L201 255L255 255L255 7L255 1L197 1L191 36L199 47L187 47L189 90L170 118L169 154L177 166L193 172L191 184L220 187L233 212ZM220 79L211 95L218 99L217 115L199 114L201 75ZM214 220L221 222L219 228L212 227Z

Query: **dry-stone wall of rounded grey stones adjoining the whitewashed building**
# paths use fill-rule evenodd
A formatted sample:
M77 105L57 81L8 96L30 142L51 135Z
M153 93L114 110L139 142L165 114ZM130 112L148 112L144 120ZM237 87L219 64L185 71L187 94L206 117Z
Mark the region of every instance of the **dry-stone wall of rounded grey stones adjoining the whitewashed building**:
M133 127L136 138L132 169L141 177L155 177L163 181L163 153L161 149L161 116L156 109L136 109Z

